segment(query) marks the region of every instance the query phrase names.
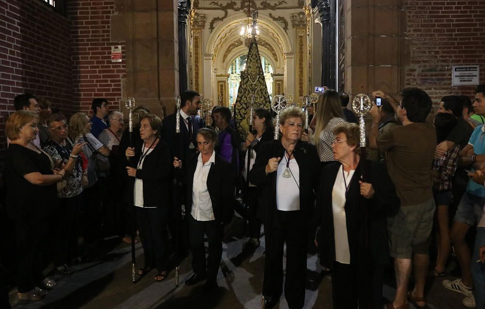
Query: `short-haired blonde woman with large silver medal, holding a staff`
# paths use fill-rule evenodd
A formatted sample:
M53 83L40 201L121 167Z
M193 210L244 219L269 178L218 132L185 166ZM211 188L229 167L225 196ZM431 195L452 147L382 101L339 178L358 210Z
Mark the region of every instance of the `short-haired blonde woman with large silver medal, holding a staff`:
M275 100L278 102L272 108L279 129L274 140L261 145L249 173L249 181L261 187L259 207L266 208L264 308L274 307L283 292L285 243L285 297L289 308L303 308L308 225L314 209L312 197L318 188L320 160L315 146L300 141L305 122L301 108L284 108L284 97Z

